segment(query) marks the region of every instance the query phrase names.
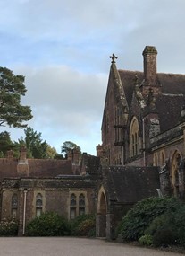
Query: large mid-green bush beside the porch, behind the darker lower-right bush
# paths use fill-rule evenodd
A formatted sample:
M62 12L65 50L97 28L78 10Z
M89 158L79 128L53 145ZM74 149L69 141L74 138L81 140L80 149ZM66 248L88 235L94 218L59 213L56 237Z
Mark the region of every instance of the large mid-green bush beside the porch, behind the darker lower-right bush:
M174 212L181 206L181 202L174 198L149 198L137 203L130 209L126 216L123 216L121 227L124 240L137 241L144 235L148 225L164 212Z

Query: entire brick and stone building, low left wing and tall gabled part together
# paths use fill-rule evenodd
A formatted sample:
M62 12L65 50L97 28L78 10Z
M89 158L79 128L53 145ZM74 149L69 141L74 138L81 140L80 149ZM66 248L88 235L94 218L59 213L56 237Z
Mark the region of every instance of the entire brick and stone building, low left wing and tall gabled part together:
M73 150L67 160L0 159L1 219L15 216L19 233L41 212L69 219L97 214L97 236L115 226L141 199L184 199L185 75L157 73L155 47L143 51L144 70L117 69L111 56L102 145L97 156Z

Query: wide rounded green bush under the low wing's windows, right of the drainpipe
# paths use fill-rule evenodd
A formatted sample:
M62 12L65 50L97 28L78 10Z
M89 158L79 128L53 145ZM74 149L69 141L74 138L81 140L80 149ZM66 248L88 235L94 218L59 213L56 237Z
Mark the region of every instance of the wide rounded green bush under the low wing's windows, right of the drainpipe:
M28 236L59 236L70 233L68 221L54 212L43 213L26 226L26 235Z

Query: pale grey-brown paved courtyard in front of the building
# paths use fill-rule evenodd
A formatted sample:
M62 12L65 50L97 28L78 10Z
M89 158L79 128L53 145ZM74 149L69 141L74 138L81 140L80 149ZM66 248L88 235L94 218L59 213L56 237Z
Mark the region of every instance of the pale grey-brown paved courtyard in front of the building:
M71 237L0 237L0 256L181 256L109 243L98 239Z

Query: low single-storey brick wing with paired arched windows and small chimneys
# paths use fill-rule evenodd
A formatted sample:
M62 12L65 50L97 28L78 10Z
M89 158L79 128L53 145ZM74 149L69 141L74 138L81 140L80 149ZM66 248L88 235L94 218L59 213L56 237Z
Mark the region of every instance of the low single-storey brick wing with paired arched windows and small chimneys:
M98 161L95 156L72 151L67 160L27 159L21 148L19 160L9 152L0 159L1 219L15 217L19 234L29 220L54 211L73 219L96 212Z

